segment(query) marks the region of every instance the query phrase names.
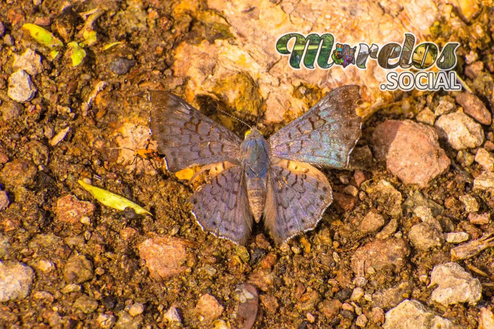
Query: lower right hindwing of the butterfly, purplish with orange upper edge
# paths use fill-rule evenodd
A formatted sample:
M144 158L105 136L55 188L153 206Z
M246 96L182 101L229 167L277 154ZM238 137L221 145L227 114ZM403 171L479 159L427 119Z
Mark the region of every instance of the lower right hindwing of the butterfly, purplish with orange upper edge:
M277 159L269 178L264 225L273 239L314 229L333 200L326 176L308 163Z

